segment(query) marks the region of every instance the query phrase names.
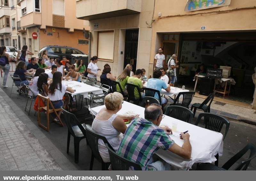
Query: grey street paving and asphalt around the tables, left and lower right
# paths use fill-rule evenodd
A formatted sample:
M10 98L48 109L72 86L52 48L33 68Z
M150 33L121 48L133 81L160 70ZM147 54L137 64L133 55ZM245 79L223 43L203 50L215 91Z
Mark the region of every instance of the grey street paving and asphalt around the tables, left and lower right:
M1 78L0 78L0 81L2 82ZM23 150L20 151L20 148L17 148L18 146L20 146L19 144L17 146L17 143L20 142L21 145L23 145L26 143L25 141L27 141L28 145L26 145L25 147L27 154L24 154L24 155L27 155L27 156L29 155L28 158L23 158L21 156L25 164L27 159L29 159L29 157L30 158L32 157L31 160L34 161L34 158L36 158L36 156L38 157L38 160L36 158L36 163L34 162L33 163L35 165L38 165L39 161L42 162L42 164L39 165L40 166L39 168L37 168L36 166L36 167L33 167L33 169L89 170L90 159L91 159L91 149L89 146L86 145L86 141L81 140L80 142L79 163L76 164L74 162L74 143L73 143L72 137L70 140L69 154L66 153L67 133L68 133L67 126L64 125L64 127L60 127L59 125L51 122L50 131L49 132L44 131L42 128L40 128L37 125L37 115L36 117L34 116L35 111L33 110L33 107L31 109L30 116L28 116L28 112L24 111L27 98L24 98L23 96L19 96L19 99L17 99L17 95L12 95L11 98L9 97L11 92L11 85L12 85L12 80L10 79L10 76L8 77L7 85L9 86L8 88L3 88L2 86L0 86L0 102L1 102L0 106L2 106L0 107L0 110L1 110L1 115L3 115L0 119L0 121L2 122L0 123L1 124L0 132L2 134L0 139L0 145L1 147L2 145L4 145L4 149L8 150L8 151L1 150L3 153L2 154L3 156L0 157L1 158L0 162L5 164L3 167L0 167L0 170L11 170L11 169L22 168L21 165L20 165L21 168L19 167L18 162L16 162L15 158L20 157L18 155L18 154L21 155L20 152L24 153ZM16 93L16 88L14 88L13 92ZM87 110L82 109L82 111L79 114L81 113L86 114ZM194 122L196 120L196 117L198 116L198 113L195 116ZM41 114L41 117L42 117L42 120L46 119L46 116L44 114ZM85 117L79 117L79 121L83 121L84 118ZM64 122L64 118L63 118L63 122ZM89 124L92 123L92 120L88 121L87 123ZM202 123L200 123L199 126L203 127ZM222 133L224 133L224 130L225 128L222 129L223 131ZM255 132L256 132L256 127L253 125L233 121L233 119L230 120L230 128L224 140L223 156L219 158L219 166L222 166L229 158L231 158L239 150L241 150L244 146L246 146L247 143L253 143L256 145ZM15 136L13 136L13 140L7 139L6 141L4 138L7 138L8 135L9 136L15 135ZM202 136L207 136L207 135L202 135ZM17 140L17 137L19 138L19 140ZM22 139L22 137L24 139ZM7 152L10 152L11 156L9 156L10 154L6 155ZM4 153L6 156L4 156ZM8 159L11 159L11 160L8 160ZM244 160L244 159L241 159L241 160ZM9 164L10 166L8 165L7 161L11 162ZM28 163L33 164L32 162L28 162ZM27 167L28 165L26 164ZM27 169L25 167L23 169L29 170L29 168ZM101 164L95 159L94 159L93 170L101 170ZM256 170L256 159L252 160L247 170Z

